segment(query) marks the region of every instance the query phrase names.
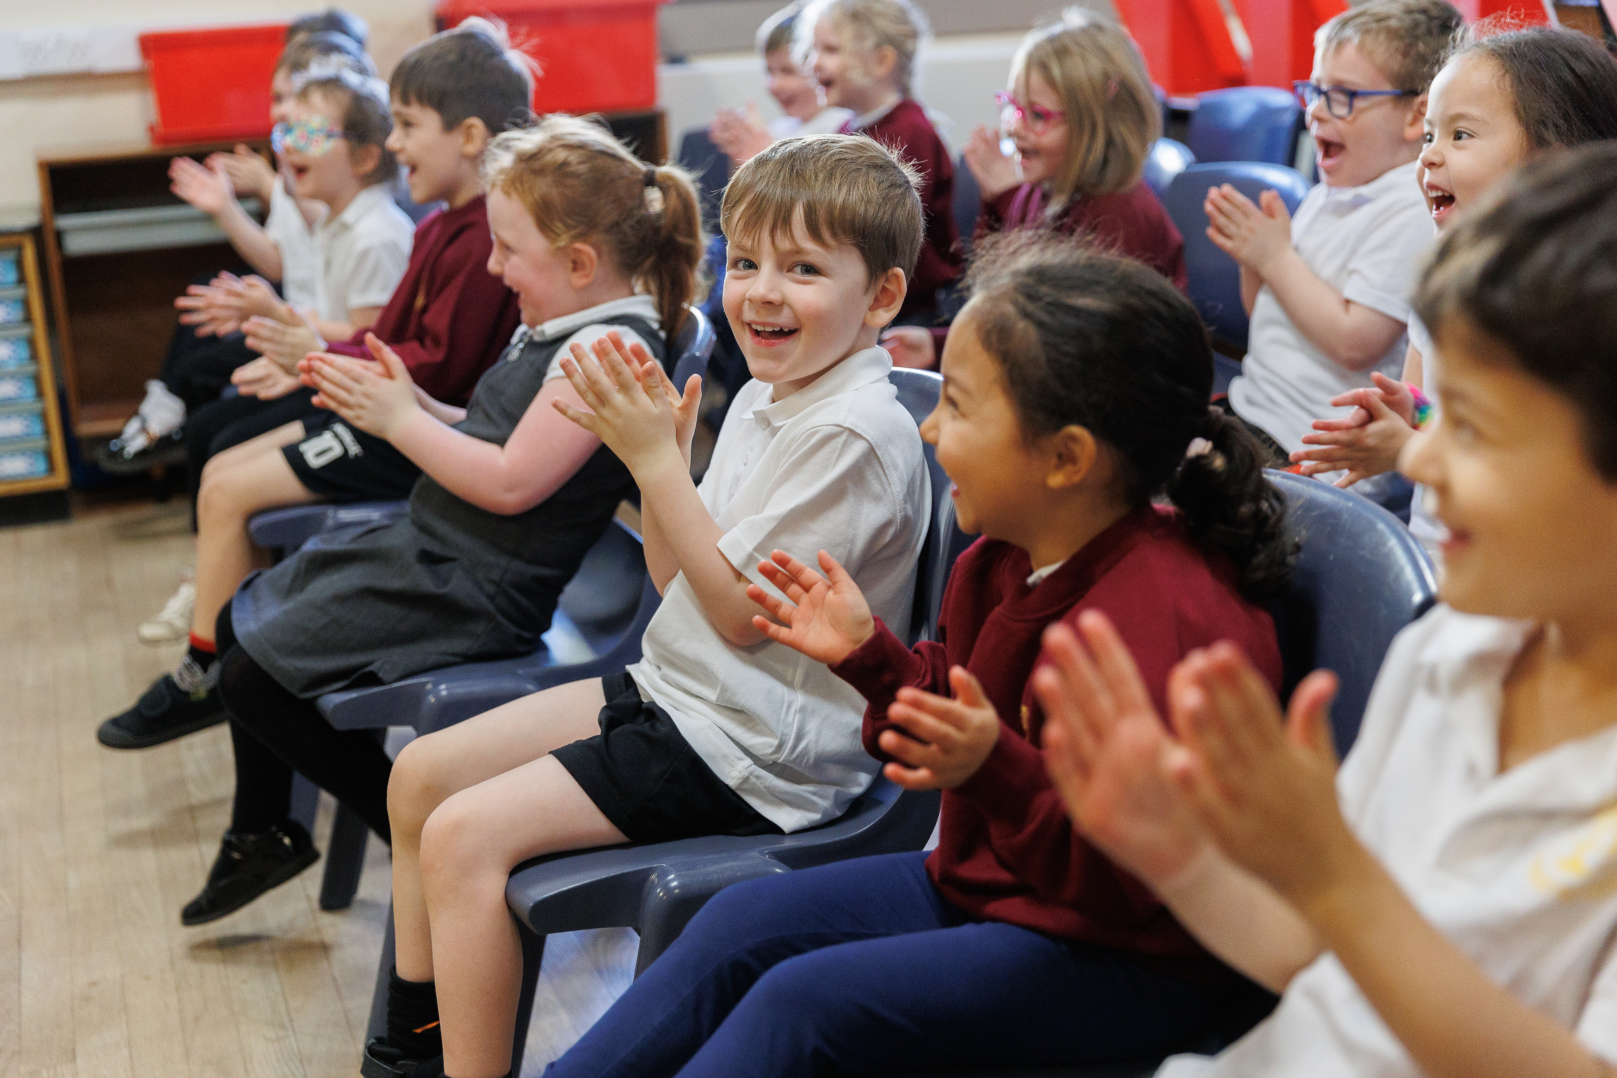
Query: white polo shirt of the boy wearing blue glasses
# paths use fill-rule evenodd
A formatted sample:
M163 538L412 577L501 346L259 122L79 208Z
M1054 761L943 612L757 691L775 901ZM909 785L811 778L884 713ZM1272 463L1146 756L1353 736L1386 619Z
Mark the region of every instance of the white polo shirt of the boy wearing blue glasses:
M1431 215L1415 183L1415 162L1362 187L1318 184L1292 218L1292 247L1345 299L1397 322L1410 318L1410 296L1421 254L1433 242ZM1404 365L1404 338L1370 370L1353 372L1315 347L1264 284L1252 305L1242 372L1229 402L1287 453L1303 448L1316 419L1345 415L1331 398L1370 388L1371 370L1394 378Z

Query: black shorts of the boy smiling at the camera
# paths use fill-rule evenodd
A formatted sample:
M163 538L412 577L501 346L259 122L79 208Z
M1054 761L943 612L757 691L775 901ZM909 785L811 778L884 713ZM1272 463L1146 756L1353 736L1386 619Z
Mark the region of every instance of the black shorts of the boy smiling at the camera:
M551 753L602 815L631 842L669 842L703 834L783 834L690 748L634 679L602 679L602 732Z

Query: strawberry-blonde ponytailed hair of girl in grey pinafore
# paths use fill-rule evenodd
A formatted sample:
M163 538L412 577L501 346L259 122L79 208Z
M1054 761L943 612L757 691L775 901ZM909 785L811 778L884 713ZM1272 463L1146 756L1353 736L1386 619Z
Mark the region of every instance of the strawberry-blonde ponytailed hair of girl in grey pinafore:
M521 202L551 247L597 247L657 301L674 339L705 291L702 212L686 170L647 165L605 126L555 113L495 136L482 173L483 189Z

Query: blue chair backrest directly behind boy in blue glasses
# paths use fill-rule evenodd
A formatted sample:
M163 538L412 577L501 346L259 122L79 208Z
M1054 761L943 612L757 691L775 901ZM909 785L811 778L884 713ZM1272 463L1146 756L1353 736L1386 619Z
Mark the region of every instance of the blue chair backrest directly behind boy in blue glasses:
M1247 351L1247 312L1240 305L1240 267L1227 254L1213 246L1206 236L1208 217L1201 208L1208 187L1231 184L1253 202L1264 191L1281 194L1286 207L1297 205L1308 194L1310 183L1302 173L1286 165L1258 162L1197 163L1174 176L1163 196L1163 205L1185 238L1185 272L1190 276L1190 301L1201 312L1213 336L1222 338L1237 349Z

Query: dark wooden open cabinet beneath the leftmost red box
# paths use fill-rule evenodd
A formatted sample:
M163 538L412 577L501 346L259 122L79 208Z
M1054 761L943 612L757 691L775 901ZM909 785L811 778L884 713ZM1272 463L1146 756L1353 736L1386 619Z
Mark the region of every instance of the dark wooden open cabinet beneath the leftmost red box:
M110 438L139 407L175 331L175 296L192 278L246 270L218 226L168 191L171 158L231 145L103 145L39 158L45 270L76 436Z

